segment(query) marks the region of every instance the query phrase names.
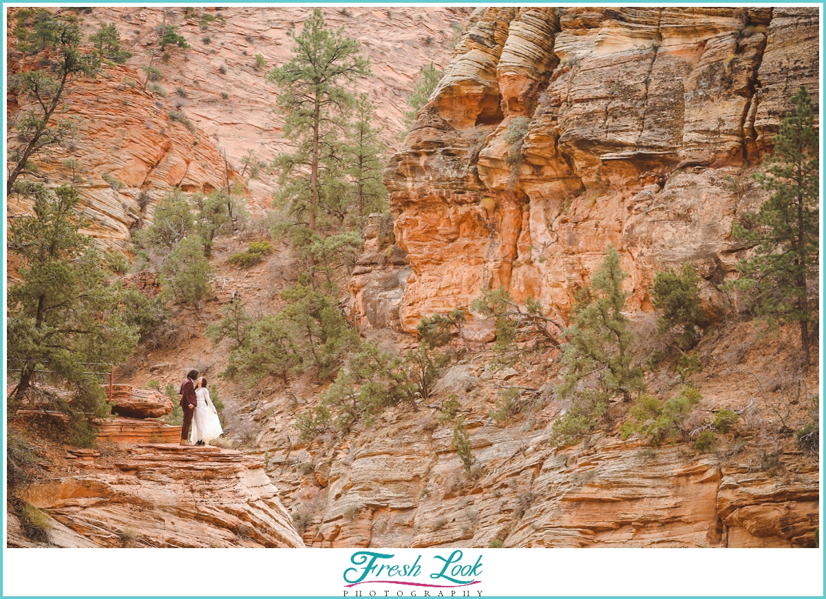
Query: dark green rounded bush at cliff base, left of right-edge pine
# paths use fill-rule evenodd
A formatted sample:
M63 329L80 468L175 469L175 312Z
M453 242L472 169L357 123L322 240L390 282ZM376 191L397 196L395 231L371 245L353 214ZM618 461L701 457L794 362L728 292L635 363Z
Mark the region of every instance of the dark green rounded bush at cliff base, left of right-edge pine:
M693 266L686 262L681 275L672 271L659 271L651 288L654 308L662 310L657 318L657 332L667 333L674 327L682 327L677 342L683 349L694 347L700 338L697 328L705 328L709 319L700 307L700 277Z

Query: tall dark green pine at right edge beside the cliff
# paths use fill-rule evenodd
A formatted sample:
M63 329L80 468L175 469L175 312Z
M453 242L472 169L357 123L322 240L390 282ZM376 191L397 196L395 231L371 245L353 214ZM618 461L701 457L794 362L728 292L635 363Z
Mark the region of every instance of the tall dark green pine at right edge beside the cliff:
M808 365L809 323L817 316L808 288L819 266L818 112L803 86L791 105L773 139L767 172L756 177L771 196L757 212L752 230L733 227L735 237L756 248L751 259L738 262L741 276L732 286L747 292L757 314L798 323Z

